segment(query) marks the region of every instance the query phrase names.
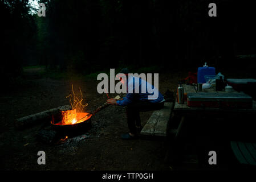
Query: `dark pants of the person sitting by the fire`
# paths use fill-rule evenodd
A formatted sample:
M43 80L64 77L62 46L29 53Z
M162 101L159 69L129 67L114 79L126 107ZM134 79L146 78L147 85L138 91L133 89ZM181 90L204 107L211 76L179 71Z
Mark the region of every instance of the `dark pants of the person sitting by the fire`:
M152 103L148 101L136 101L126 106L127 123L130 133L136 134L137 128L141 127L140 112L160 110L164 107L164 102Z

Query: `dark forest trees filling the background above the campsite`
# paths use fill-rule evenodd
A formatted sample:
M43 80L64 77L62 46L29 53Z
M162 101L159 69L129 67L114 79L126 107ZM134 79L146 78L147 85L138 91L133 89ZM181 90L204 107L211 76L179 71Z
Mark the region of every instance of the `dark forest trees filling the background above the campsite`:
M255 54L250 4L216 1L218 16L210 18L204 0L38 2L46 5L45 17L31 15L29 0L0 1L5 80L21 75L23 65L94 75L214 66L219 57L229 65L235 55Z

